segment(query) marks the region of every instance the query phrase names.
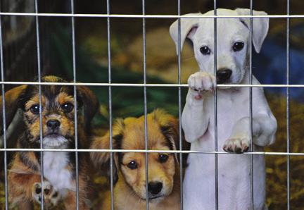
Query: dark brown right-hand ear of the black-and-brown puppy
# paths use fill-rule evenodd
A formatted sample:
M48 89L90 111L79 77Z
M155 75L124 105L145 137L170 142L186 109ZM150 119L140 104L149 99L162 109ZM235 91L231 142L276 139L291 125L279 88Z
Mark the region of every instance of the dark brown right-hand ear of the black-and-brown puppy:
M99 101L94 92L86 86L77 86L77 98L84 109L84 125L87 132L90 130L91 120L99 109Z

